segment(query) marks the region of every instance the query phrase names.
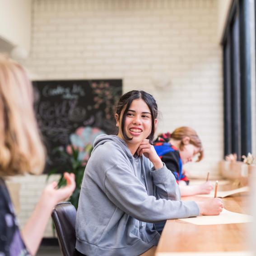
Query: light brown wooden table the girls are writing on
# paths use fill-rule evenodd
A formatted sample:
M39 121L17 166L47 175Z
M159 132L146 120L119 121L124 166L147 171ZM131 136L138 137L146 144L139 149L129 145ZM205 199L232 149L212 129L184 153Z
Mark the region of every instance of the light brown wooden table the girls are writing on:
M223 190L228 190L228 187ZM224 208L249 214L248 198L246 193L223 198ZM198 200L199 197L183 199ZM204 199L201 197L200 200ZM155 255L252 255L247 245L249 225L250 223L200 226L178 219L168 220ZM190 253L187 254L188 252Z

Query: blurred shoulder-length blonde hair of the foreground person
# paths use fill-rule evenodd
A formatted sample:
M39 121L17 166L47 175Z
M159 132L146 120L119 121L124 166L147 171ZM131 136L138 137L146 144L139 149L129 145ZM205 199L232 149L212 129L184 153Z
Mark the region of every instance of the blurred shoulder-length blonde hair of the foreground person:
M0 177L38 174L46 158L22 66L0 54Z

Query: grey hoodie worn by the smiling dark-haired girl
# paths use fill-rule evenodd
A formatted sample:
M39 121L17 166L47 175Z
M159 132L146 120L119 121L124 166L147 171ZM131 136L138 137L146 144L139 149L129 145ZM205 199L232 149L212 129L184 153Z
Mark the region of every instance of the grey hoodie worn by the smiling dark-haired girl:
M115 135L99 135L93 147L76 215L81 253L137 256L158 244L154 222L199 214L195 202L179 201L179 187L165 165L155 170Z

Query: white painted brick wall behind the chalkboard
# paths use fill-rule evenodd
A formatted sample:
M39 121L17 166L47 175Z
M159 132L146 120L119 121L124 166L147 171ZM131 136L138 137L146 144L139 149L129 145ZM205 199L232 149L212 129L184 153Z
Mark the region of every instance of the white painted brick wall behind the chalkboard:
M217 9L217 0L34 0L32 49L24 64L39 79L121 78L124 92L152 93L162 116L158 131L194 127L205 159L190 168L215 175L223 155ZM154 86L161 74L170 81L166 88ZM20 178L34 179L40 189L22 189L21 223L45 177Z

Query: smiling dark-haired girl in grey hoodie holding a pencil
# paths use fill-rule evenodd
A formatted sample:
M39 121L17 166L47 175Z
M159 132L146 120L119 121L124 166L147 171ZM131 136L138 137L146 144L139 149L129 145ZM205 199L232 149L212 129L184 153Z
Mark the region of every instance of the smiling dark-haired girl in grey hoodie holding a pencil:
M130 91L116 107L118 135L94 141L76 217L79 252L138 256L151 250L153 255L160 237L154 222L221 212L219 198L180 200L175 177L152 145L157 114L152 95Z

